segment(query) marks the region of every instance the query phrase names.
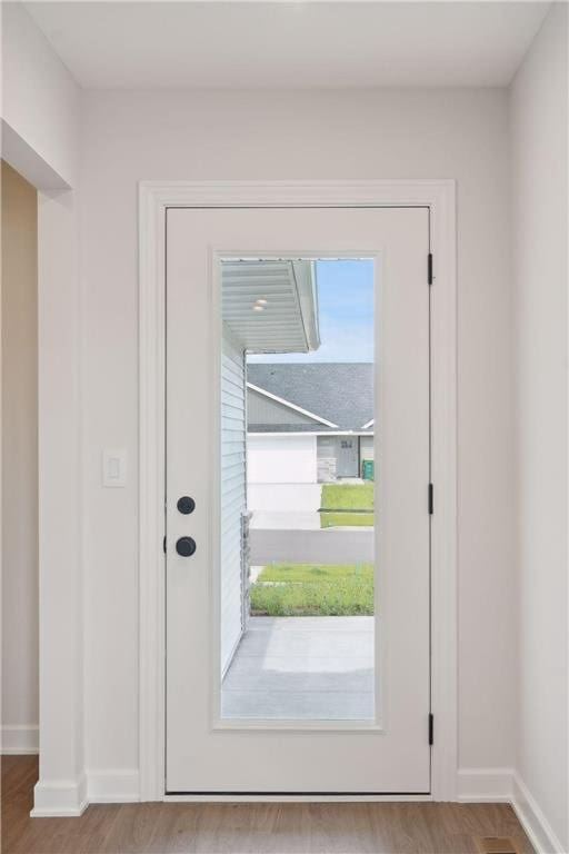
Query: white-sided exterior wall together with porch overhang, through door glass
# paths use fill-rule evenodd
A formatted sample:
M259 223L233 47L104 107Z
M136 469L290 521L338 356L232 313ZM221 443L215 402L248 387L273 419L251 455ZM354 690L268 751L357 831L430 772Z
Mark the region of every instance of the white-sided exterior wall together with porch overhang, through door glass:
M244 628L248 572L247 354L318 349L318 299L311 261L222 262L221 355L221 669Z

